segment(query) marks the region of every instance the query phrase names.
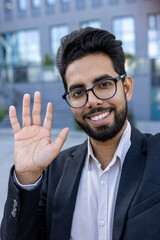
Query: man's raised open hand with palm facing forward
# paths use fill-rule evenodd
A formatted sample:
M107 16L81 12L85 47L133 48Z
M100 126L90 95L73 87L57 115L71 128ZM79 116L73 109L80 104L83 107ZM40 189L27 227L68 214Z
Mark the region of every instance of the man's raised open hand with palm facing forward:
M23 97L22 128L17 119L16 109L11 106L9 117L15 137L14 161L17 178L21 184L35 183L46 168L59 154L69 131L64 128L51 143L53 104L48 103L43 126L41 126L41 93L35 92L32 119L30 95Z

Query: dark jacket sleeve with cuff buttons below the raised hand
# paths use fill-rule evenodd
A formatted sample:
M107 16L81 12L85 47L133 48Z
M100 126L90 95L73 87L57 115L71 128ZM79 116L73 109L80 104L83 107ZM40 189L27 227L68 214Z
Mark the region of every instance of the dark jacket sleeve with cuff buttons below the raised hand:
M1 224L1 240L45 240L46 199L42 194L40 201L42 183L31 191L20 189L13 181L13 169Z

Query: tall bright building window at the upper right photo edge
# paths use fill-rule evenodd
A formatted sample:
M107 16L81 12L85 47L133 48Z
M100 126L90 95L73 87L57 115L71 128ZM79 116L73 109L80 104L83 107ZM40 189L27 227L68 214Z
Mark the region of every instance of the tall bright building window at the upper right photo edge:
M160 13L148 17L148 56L160 56Z

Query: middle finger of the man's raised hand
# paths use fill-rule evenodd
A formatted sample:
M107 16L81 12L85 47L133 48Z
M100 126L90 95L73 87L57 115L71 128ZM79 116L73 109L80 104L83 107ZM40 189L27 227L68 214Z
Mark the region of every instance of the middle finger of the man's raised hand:
M35 92L34 94L34 105L32 111L32 124L41 125L41 93Z

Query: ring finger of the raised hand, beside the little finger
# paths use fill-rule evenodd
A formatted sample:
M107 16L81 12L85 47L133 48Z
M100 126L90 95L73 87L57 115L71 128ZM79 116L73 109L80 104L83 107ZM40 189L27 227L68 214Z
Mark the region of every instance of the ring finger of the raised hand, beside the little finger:
M31 125L31 114L30 114L30 95L27 93L23 96L23 109L22 109L22 122L23 127Z

